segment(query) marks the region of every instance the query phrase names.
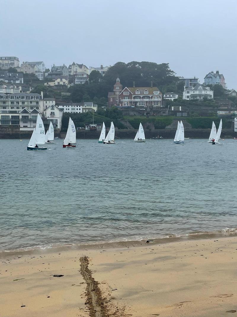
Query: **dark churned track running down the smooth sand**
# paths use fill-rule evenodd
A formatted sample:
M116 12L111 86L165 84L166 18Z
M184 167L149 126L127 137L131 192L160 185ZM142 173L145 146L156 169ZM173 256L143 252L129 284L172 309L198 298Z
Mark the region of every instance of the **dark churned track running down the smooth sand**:
M99 288L99 282L95 281L92 277L92 272L88 268L88 265L88 257L80 257L80 272L87 284L85 305L88 305L89 315L90 317L109 317L105 300L102 298L102 293Z

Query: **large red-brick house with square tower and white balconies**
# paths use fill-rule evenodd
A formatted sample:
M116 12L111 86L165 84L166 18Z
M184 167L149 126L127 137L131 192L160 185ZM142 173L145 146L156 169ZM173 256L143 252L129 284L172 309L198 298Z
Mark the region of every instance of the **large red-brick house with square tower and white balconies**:
M162 107L162 93L158 87L125 87L116 79L113 92L108 93L109 107Z

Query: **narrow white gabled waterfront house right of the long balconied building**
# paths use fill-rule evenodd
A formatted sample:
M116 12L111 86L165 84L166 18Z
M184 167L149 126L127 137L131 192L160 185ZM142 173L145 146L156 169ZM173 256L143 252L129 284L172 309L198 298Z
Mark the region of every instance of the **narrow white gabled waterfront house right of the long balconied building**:
M62 117L63 117L62 109L60 109L58 106L55 106L55 104L49 105L44 110L44 117L42 118L45 128L48 129L50 121L52 121L52 125L54 129L61 129Z

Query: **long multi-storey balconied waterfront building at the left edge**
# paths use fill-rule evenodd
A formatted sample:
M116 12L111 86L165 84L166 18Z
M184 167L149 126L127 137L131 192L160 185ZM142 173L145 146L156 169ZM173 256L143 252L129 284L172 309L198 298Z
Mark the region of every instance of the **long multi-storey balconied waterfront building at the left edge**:
M20 130L33 130L37 114L43 112L42 94L0 93L1 126L17 126Z

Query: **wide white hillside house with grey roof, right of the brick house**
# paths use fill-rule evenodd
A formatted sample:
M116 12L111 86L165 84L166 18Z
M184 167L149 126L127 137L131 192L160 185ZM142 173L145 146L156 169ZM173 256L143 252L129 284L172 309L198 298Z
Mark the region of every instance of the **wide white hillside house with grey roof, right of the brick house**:
M185 87L183 92L183 99L203 100L204 98L213 100L213 91L210 89L210 87L204 87L201 84L197 84L195 87Z

